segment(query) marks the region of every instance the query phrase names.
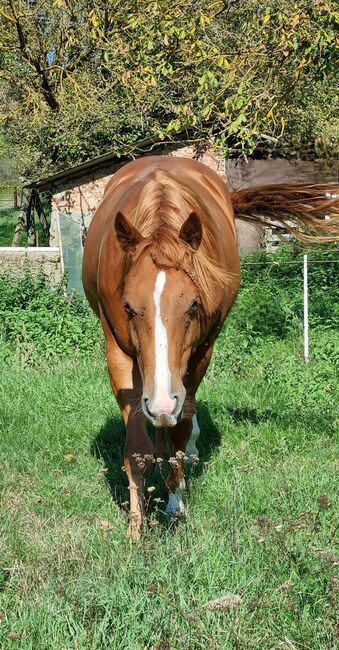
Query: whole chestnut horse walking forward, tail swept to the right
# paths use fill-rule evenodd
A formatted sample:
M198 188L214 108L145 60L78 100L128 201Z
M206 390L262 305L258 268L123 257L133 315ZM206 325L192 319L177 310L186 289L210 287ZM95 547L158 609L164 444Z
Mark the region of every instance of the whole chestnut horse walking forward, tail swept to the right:
M167 512L184 512L183 463L197 454L199 434L195 394L240 284L233 208L290 230L293 214L300 238L333 240L339 207L325 198L329 187L271 185L230 195L201 163L158 156L125 165L108 183L88 231L83 285L101 320L126 425L131 538L143 528L147 471L154 458L169 458L168 445L175 460ZM325 213L333 217L325 221ZM146 420L156 428L155 445Z

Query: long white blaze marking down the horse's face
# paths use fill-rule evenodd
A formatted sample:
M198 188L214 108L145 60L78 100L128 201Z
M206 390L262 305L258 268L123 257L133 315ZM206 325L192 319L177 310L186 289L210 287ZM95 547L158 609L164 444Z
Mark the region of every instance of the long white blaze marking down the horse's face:
M154 398L152 409L165 407L171 412L175 406L174 400L170 397L171 371L168 365L168 340L167 331L161 319L160 300L166 283L165 271L159 271L153 292L155 305L155 372L154 372ZM167 407L167 409L166 409ZM173 410L173 409L172 409Z

